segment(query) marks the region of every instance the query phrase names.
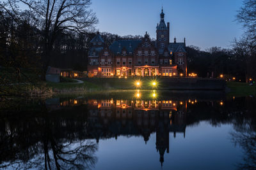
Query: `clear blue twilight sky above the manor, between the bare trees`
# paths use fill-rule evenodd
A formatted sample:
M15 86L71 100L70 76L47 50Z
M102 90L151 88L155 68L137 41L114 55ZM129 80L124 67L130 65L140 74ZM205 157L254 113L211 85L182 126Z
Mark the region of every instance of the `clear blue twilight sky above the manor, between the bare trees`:
M120 36L144 35L156 38L163 4L165 21L170 22L170 39L186 37L187 45L202 50L211 46L228 48L243 34L235 19L242 0L92 0L99 18L97 29Z

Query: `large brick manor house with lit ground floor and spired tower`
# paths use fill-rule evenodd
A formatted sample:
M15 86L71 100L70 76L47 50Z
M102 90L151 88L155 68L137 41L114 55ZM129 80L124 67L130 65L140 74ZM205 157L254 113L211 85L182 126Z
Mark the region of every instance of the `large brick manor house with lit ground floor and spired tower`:
M156 41L145 34L141 40L118 40L104 45L99 32L90 41L88 74L95 77L186 76L186 41L170 43L170 23L161 20L156 27Z

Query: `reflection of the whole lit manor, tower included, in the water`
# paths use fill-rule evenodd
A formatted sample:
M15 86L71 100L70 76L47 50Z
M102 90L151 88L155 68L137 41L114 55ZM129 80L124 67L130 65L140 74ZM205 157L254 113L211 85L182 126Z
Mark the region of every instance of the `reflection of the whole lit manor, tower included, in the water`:
M156 132L156 150L160 162L169 152L169 132L176 136L186 129L186 102L177 101L88 101L88 133L90 138L143 136L147 144L150 134Z

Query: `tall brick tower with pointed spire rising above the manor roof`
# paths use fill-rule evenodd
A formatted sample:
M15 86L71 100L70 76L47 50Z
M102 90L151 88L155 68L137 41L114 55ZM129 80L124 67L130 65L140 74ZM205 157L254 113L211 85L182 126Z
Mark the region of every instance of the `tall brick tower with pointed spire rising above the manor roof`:
M159 48L159 52L161 53L161 49L162 51L164 50L164 48L168 48L169 45L169 37L170 37L170 24L169 22L167 23L167 26L164 22L164 12L162 9L162 12L160 14L160 22L159 24L157 24L156 27L156 45L157 48Z

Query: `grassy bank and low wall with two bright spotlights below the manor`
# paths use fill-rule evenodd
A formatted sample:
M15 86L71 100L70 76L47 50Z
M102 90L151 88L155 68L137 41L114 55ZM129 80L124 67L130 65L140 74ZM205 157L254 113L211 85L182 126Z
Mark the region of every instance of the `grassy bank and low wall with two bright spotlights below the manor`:
M134 89L225 90L225 81L203 78L84 78L83 81L84 83L61 82L47 85L56 93Z

